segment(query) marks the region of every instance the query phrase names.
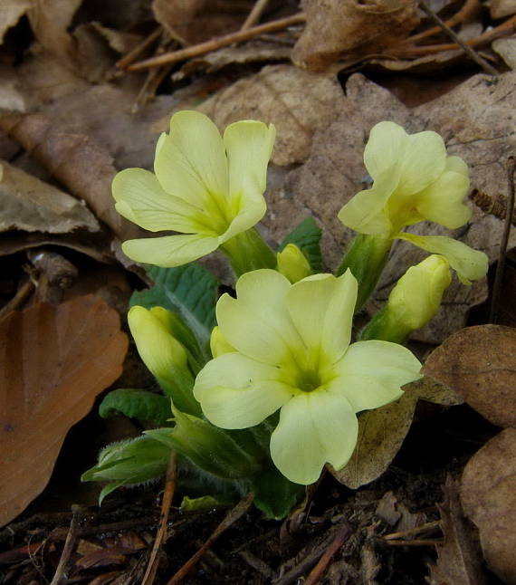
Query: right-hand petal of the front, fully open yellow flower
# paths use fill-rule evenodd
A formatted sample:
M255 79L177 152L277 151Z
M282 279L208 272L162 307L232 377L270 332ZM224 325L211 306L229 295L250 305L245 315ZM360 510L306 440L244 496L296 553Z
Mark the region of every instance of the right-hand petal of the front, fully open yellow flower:
M354 412L379 408L402 396L400 389L421 378L421 364L402 345L388 341L358 341L335 366L339 378L330 388L341 392Z

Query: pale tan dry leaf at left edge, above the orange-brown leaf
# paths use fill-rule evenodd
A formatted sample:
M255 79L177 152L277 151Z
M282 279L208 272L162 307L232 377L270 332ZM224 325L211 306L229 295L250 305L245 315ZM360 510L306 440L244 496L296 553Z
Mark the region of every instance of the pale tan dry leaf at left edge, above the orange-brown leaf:
M79 228L96 232L95 217L81 203L20 168L0 161L0 232L66 234Z

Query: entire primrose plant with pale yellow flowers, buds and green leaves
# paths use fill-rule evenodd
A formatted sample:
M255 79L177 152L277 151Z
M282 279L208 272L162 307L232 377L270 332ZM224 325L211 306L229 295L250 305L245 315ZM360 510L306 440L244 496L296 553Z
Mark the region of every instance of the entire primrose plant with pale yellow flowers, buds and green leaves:
M408 234L430 220L454 229L471 216L468 168L435 132L408 135L393 122L370 133L364 161L373 185L342 207L358 235L336 275L322 272L320 229L308 218L273 251L256 230L272 153L272 125L244 120L221 137L196 111L172 117L158 139L154 173L121 171L119 213L150 232L129 240L129 258L150 264L153 288L135 292L129 328L163 394L119 388L101 416L147 421L142 436L105 447L84 481L157 479L172 452L184 495L225 501L253 492L281 518L357 445L360 413L397 400L420 378L403 343L438 311L454 269L469 284L487 257L451 237ZM353 316L374 291L395 239L432 253L399 279L385 307L352 340ZM193 263L220 248L234 294L217 300L215 276Z

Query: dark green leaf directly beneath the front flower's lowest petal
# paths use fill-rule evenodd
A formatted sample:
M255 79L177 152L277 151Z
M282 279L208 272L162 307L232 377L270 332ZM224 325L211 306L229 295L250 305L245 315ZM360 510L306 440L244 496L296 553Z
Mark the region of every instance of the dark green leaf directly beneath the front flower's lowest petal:
M268 518L281 520L301 501L305 486L293 484L272 465L253 477L249 491L254 493L254 505Z

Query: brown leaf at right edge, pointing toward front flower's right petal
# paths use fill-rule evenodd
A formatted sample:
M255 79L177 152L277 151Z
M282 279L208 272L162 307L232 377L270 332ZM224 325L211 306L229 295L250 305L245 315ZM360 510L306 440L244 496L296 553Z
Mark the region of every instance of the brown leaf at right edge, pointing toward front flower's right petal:
M516 329L461 329L430 354L423 371L493 425L516 427Z

